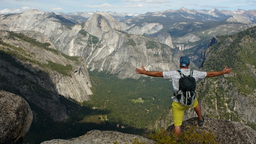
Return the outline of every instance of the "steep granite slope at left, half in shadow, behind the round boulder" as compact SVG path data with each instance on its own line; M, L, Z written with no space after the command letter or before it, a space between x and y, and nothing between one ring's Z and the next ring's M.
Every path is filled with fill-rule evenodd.
M19 93L29 102L47 111L55 121L65 121L67 112L60 103L59 95L77 101L90 100L92 94L85 60L68 60L60 52L50 47L43 48L23 41L21 34L0 31L1 36L1 89ZM38 41L49 41L36 32L26 32ZM25 37L25 36L24 36ZM37 44L37 43L36 43ZM16 59L11 56L15 54ZM78 63L78 64L77 64ZM52 65L52 66L50 66ZM54 67L69 68L65 73ZM53 69L52 69L53 68ZM64 71L63 71L64 72ZM36 118L36 117L35 117Z

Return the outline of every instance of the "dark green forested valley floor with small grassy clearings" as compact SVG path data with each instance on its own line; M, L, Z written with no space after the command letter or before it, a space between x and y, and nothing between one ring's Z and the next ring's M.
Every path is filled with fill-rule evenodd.
M134 68L135 69L135 68ZM89 71L89 70L88 70ZM136 73L134 72L136 75ZM171 106L172 85L163 78L118 79L106 72L90 72L93 95L90 101L77 104L60 96L66 106L67 122L54 122L41 110L24 137L26 143L50 139L70 139L91 130L110 130L139 134L147 124ZM32 109L40 108L29 104ZM81 106L82 105L82 106ZM107 115L106 122L81 122L84 117ZM105 118L105 117L104 117ZM119 127L117 127L119 124Z

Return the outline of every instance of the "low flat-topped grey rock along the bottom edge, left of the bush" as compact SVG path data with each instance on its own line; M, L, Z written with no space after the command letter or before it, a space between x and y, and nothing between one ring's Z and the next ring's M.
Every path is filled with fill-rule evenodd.
M149 140L147 138L144 138L139 135L133 135L133 134L126 134L122 132L114 132L114 131L99 131L99 130L92 130L90 132L87 132L85 135L72 138L69 140L49 140L44 141L41 144L113 144L113 142L116 142L118 144L130 144L134 140L138 139L139 142L144 142L146 144L154 144L156 143L153 140Z

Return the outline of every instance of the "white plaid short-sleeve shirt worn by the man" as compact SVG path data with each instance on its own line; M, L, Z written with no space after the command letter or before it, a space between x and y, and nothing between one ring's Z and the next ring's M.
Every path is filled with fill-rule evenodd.
M190 69L184 69L181 68L180 71L183 73L183 75L190 75ZM164 71L163 72L164 79L167 79L172 82L172 87L174 92L179 91L179 79L180 79L180 73L177 70L173 71ZM196 71L193 70L193 77L196 79L204 79L206 77L206 72ZM174 102L179 102L174 96L172 97Z

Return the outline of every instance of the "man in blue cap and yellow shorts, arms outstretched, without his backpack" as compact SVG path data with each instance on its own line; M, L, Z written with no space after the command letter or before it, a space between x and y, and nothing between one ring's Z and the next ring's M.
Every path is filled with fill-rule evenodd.
M186 56L180 57L180 71L183 75L189 76L190 75L190 69L188 66L190 65L189 58ZM174 92L179 91L179 79L180 79L180 73L177 70L174 71L146 71L146 69L141 66L142 68L136 68L135 71L137 74L143 74L147 76L154 76L154 77L164 77L164 79L167 79L172 82L173 90ZM195 78L197 81L198 79L204 79L205 77L213 77L213 76L220 76L224 74L229 74L232 72L232 68L227 69L228 66L225 66L225 68L222 71L213 71L213 72L201 72L193 70L192 77ZM184 110L190 108L189 106L183 106L179 103L176 96L172 96L172 118L174 121L174 133L176 135L180 135L180 126L182 124L183 114ZM204 117L201 113L200 105L195 98L193 107L197 116L198 116L198 125L203 126L204 124Z

